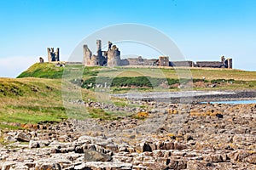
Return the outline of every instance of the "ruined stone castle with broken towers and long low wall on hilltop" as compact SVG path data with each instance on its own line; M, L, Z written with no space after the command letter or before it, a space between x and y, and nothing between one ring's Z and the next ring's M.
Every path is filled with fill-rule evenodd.
M144 66L182 66L182 67L209 67L209 68L229 68L232 69L232 59L225 59L221 57L220 61L172 61L169 56L160 56L158 59L143 59L137 58L121 59L120 51L112 42L108 42L108 50L102 50L102 41L96 40L96 54L92 54L88 45L83 46L83 64L85 66L119 66L119 65L144 65ZM81 49L82 50L82 49ZM48 61L60 61L60 49L47 48ZM44 62L40 58L40 62Z

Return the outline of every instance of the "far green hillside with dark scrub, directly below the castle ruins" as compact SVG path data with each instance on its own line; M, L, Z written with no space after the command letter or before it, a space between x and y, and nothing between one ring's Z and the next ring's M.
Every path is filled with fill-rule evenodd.
M63 74L64 73L64 74ZM75 74L75 75L73 75ZM62 75L64 75L62 77ZM125 92L130 88L150 90L166 87L178 90L180 84L186 87L206 90L256 88L256 71L239 71L210 68L177 68L172 67L85 67L83 65L34 64L20 77L38 77L50 79L67 79L81 85L82 88L93 88L96 83L110 86L114 92ZM193 78L193 85L191 85ZM82 82L80 82L82 79ZM165 85L166 83L166 85ZM92 86L91 86L92 85ZM105 86L106 86L105 85ZM212 90L212 88L211 88Z

